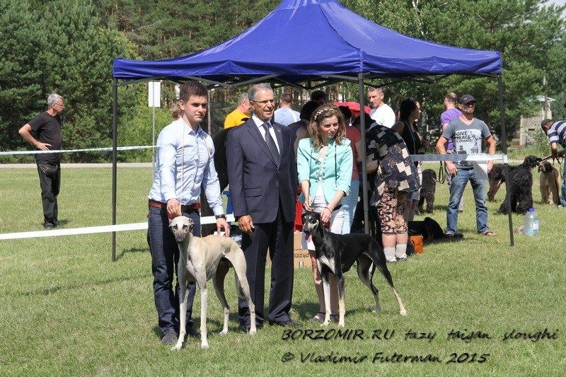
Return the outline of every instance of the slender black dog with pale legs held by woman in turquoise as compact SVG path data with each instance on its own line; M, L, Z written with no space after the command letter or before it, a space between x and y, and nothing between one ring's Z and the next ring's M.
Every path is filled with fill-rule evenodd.
M379 243L369 236L369 234L335 234L325 231L320 214L316 212L306 212L303 214L303 231L306 239L312 237L315 251L316 262L324 286L324 303L326 313L323 325L330 323L330 284L328 274L332 272L338 282L338 325L344 327L344 272L350 270L354 262L357 261L359 279L371 289L376 301L376 311L381 311L379 304L379 291L371 281L374 277L376 267L379 268L389 286L393 290L395 298L399 304L401 315L407 315L403 301L395 286L393 279L387 269L385 253Z

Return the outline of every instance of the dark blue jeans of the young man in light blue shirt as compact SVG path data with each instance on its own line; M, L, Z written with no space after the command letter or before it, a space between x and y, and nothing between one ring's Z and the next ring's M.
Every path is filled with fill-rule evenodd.
M199 211L183 212L195 221L192 234L200 236ZM167 210L149 207L148 242L151 252L151 272L154 274L154 298L159 329L163 335L179 330L179 281L177 263L179 248L169 229ZM175 291L173 291L173 277ZM195 283L189 284L187 299L187 328L192 327L192 302L195 300Z

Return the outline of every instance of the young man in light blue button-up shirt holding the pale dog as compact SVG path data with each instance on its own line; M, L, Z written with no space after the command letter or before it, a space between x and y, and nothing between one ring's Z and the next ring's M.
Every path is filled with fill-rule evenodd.
M226 236L230 236L214 169L214 144L199 124L207 114L207 89L201 83L188 81L180 87L179 98L179 117L163 128L157 139L154 184L148 196L151 270L163 344L176 343L179 330L179 284L176 277L173 279L179 249L169 230L169 222L176 216L187 216L195 222L192 234L200 236L200 203L197 201L202 185L216 216L216 228L224 229ZM188 294L187 332L191 334L195 284L189 285Z

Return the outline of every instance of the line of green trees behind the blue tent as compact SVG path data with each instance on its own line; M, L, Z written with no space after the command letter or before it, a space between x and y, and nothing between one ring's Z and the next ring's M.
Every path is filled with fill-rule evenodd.
M112 124L112 59L168 59L217 45L272 11L275 0L0 0L0 147L27 149L18 129L45 110L48 93L64 96L66 149L109 146ZM556 98L555 117L565 117L564 7L546 0L342 0L347 8L386 28L446 45L498 50L503 57L507 131L520 115L531 115L529 98ZM305 30L316 33L316 30ZM321 41L323 42L323 41ZM403 56L403 51L399 51ZM546 85L543 85L543 78ZM283 88L288 91L290 88ZM120 144L151 141L146 85L120 87ZM497 81L450 76L434 84L401 82L386 88L393 108L406 97L419 99L436 127L450 91L478 98L478 117L497 129ZM357 100L357 86L329 88ZM212 92L212 124L221 127L238 91ZM174 98L173 85L163 95ZM299 104L300 105L300 104ZM171 117L158 109L158 127ZM148 153L122 153L144 159ZM66 161L99 161L99 153L64 156ZM25 159L25 158L24 158ZM4 158L1 161L21 161Z

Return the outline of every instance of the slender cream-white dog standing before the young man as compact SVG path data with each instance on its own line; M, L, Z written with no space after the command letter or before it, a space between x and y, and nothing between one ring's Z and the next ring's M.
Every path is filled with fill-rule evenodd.
M171 350L178 350L183 347L185 339L185 318L187 315L187 284L196 282L200 289L200 347L208 348L207 341L207 281L214 277L214 290L218 296L222 308L224 308L224 328L220 332L228 332L229 306L224 296L224 277L229 270L228 260L236 271L239 282L240 297L246 298L250 308L250 334L255 334L255 306L250 296L250 287L246 279L246 258L242 249L231 238L221 236L207 236L204 238L192 236L194 223L192 219L185 216L177 216L169 228L175 236L179 246L180 256L177 266L177 277L180 286L180 330L179 339L175 347ZM226 259L224 259L226 258Z

